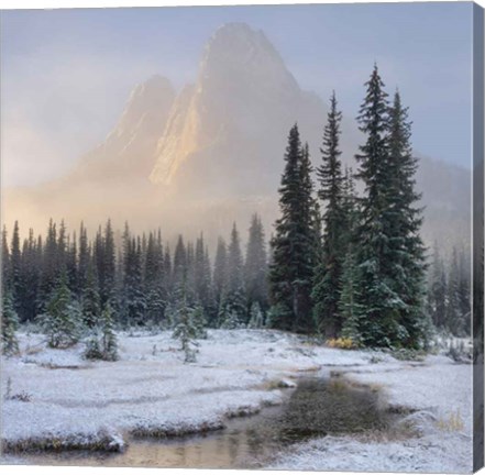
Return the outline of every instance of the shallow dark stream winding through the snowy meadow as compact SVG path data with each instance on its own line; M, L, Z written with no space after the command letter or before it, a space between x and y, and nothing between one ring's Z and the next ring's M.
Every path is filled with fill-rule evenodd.
M231 419L219 431L168 440L131 438L121 454L42 453L27 460L38 465L257 468L294 443L327 434L385 431L395 420L377 390L342 377L304 377L287 391L283 405Z

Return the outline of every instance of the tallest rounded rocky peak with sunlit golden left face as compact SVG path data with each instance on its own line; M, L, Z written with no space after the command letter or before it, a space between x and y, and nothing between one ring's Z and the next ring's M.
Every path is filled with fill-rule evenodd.
M224 25L172 110L150 179L199 197L273 192L289 128L298 122L315 140L324 117L263 32Z

